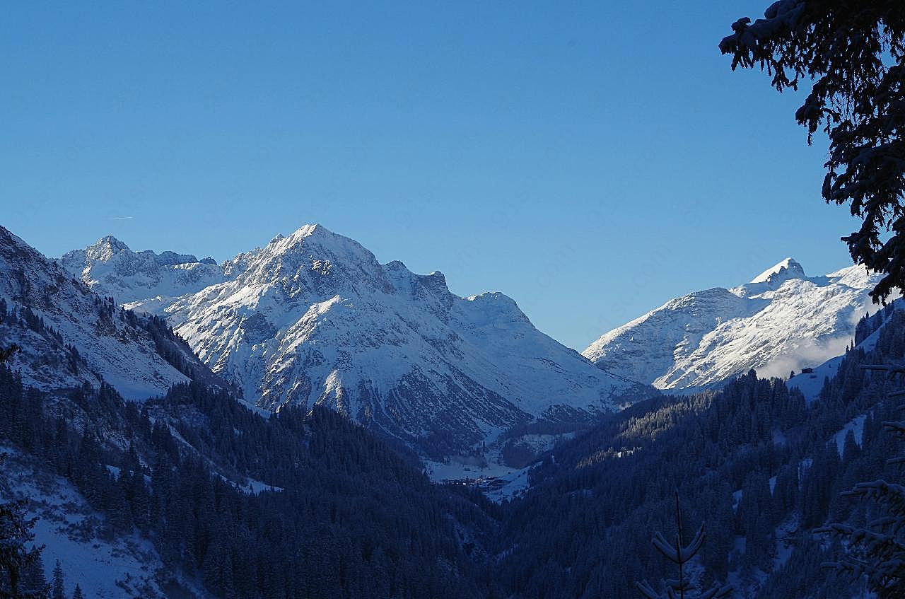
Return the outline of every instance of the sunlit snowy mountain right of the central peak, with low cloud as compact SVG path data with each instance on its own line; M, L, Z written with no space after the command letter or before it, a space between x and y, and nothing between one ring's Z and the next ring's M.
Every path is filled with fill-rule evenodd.
M787 258L738 287L671 299L582 353L661 389L718 385L751 368L788 376L843 353L877 280L860 266L807 277Z

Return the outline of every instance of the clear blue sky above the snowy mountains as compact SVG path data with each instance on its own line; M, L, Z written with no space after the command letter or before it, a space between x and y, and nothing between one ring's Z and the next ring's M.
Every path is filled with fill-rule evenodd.
M322 223L581 350L786 256L850 263L738 2L5 3L0 223L223 260Z

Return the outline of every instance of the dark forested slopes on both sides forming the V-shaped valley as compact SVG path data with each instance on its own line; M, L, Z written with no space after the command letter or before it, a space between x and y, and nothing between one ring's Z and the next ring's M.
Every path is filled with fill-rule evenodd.
M334 411L266 417L201 382L138 404L110 385L48 395L3 366L0 438L97 510L82 535L148 539L160 587L182 594L194 582L215 597L634 596L636 581L674 576L651 537L675 534L678 490L683 532L706 523L695 584L848 597L864 583L820 567L843 546L814 528L872 519L841 492L899 480L881 423L900 383L862 366L905 359L905 312L863 320L858 338L871 342L811 403L751 372L635 404L546 454L502 505L431 483L414 454Z

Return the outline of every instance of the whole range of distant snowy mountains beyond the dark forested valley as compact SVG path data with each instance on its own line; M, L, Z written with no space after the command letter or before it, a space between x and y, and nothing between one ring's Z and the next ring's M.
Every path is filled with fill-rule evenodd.
M232 260L133 252L113 237L58 264L101 296L166 319L246 401L329 405L437 458L514 427L576 425L654 395L756 369L788 376L843 353L876 282L861 267L808 277L788 258L748 283L672 299L583 355L509 297L452 294L441 272L379 263L319 224Z

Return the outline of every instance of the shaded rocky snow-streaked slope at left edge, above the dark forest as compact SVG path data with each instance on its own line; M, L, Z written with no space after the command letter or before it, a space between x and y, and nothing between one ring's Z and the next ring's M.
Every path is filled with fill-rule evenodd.
M0 226L0 347L12 344L24 382L42 389L103 380L146 399L207 371L163 322L119 309Z

